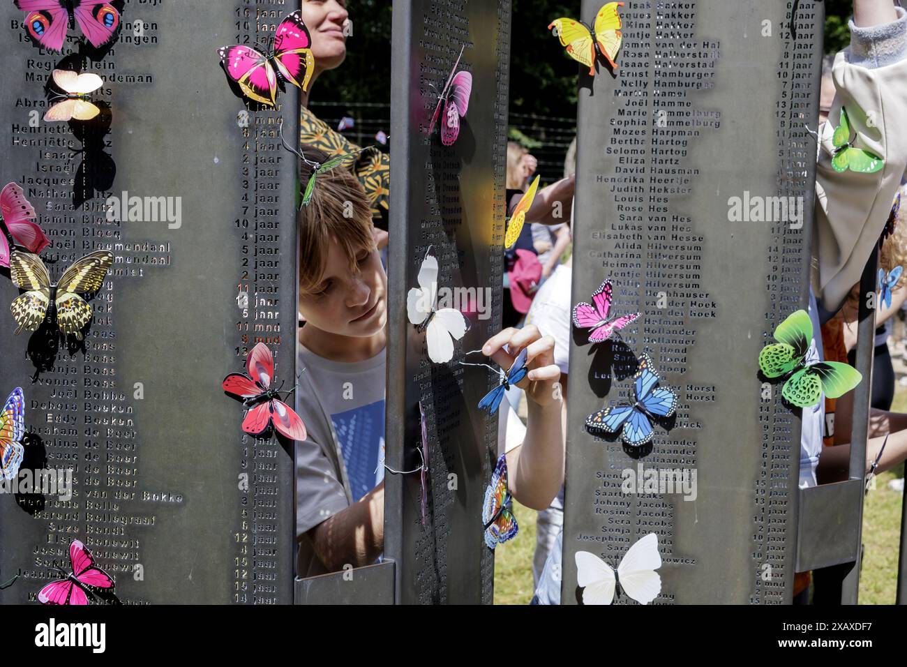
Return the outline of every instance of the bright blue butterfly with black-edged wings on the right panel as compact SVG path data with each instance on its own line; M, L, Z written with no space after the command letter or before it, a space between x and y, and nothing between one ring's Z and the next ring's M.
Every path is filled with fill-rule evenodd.
M667 387L658 387L658 373L648 354L639 358L636 372L636 403L632 406L606 407L586 417L586 428L590 432L620 433L623 441L630 446L645 445L655 435L652 428L654 417L670 417L678 405L678 397ZM597 435L592 433L592 435Z

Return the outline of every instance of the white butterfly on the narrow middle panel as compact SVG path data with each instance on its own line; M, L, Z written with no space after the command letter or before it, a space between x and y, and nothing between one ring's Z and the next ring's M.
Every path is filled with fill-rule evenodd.
M453 339L466 333L466 318L457 309L434 309L438 296L438 260L426 254L419 269L419 288L406 295L406 315L419 329L425 329L428 357L436 364L453 358Z

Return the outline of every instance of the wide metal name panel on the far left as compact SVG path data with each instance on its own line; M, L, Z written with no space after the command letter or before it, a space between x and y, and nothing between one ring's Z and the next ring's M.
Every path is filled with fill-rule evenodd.
M46 321L15 336L0 313L0 391L25 395L22 468L72 473L68 498L0 495L0 577L20 574L4 603L33 602L69 572L74 539L116 581L95 602L292 600L291 448L245 436L220 383L263 342L272 386L295 384L297 172L278 126L295 135L298 96L288 86L277 109L247 105L217 53L269 40L288 5L208 7L199 32L182 3L133 0L91 57L78 28L54 54L30 43L24 12L0 9L3 182L34 204L52 277L93 250L114 255L83 341ZM54 68L102 77L98 116L44 122ZM19 293L8 275L6 304Z

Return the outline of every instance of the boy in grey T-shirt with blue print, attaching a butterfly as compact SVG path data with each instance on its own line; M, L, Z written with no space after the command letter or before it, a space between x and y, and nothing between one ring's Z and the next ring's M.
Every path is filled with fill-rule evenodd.
M306 150L307 158L326 156ZM306 179L304 178L303 181ZM297 411L308 437L297 443L297 575L375 562L384 551L385 345L387 278L373 238L369 202L344 169L321 174L299 212ZM398 298L403 299L400 295ZM504 348L507 345L510 351ZM528 350L524 380L530 427L508 431L512 495L543 509L563 482L561 400L554 340L534 327L505 329L483 346L502 368ZM499 414L508 415L502 405ZM504 425L502 425L504 426ZM520 435L520 434L518 434ZM477 530L480 529L476 517Z

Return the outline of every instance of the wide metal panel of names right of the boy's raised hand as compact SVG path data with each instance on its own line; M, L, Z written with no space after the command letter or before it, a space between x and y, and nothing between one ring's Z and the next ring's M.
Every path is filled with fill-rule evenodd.
M564 603L578 551L616 568L649 533L655 603L791 600L800 421L757 358L806 303L824 15L790 5L628 1L619 71L580 76L572 303L610 278L612 315L642 315L572 341ZM644 446L593 435L642 352L675 417Z

